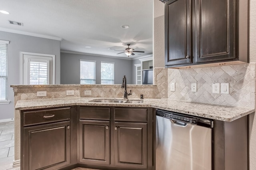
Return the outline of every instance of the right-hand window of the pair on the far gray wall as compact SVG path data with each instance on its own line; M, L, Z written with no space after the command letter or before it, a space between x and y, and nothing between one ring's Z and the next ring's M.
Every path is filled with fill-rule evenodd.
M114 84L114 63L101 62L101 84Z

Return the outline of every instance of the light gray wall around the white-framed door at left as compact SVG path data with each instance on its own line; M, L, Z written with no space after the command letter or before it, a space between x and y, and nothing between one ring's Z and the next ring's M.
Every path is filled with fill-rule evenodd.
M0 120L14 118L14 92L10 85L20 84L20 51L55 55L55 83L60 83L60 41L0 31L8 44L8 101L0 105Z

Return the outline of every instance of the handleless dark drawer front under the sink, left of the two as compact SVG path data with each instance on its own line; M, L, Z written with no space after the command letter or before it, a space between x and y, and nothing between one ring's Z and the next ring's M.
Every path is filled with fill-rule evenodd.
M79 119L110 120L110 108L80 107Z

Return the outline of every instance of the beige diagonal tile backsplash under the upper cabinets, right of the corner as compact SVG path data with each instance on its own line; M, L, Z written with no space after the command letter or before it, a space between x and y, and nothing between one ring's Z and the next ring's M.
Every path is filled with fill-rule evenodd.
M176 91L169 90L176 83ZM191 92L197 83L197 92ZM230 83L230 94L212 93L212 83ZM255 63L168 69L168 98L238 107L255 107Z

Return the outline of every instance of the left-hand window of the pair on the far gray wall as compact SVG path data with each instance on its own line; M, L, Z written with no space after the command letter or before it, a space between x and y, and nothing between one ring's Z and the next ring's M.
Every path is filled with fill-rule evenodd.
M96 61L80 60L80 84L95 84Z

